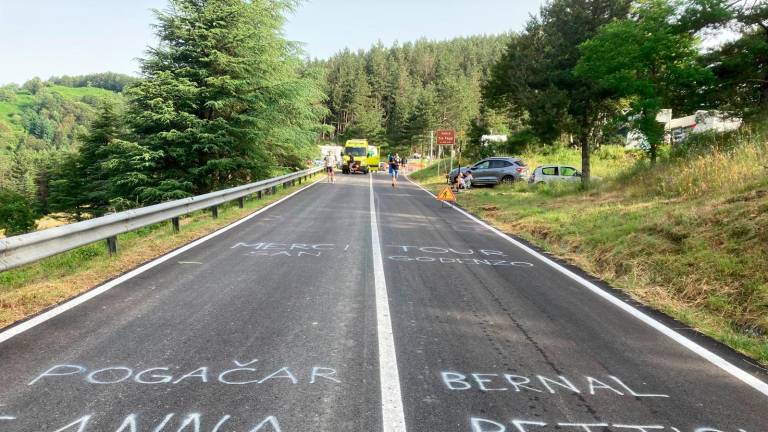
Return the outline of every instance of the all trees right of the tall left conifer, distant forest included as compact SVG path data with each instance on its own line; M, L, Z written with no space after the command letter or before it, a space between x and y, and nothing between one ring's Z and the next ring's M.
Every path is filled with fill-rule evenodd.
M738 34L714 50L702 37ZM565 143L583 154L637 130L658 157L661 109L768 110L768 3L752 0L550 0L517 33L344 50L326 71L329 132L422 152L430 131L465 132L470 158ZM506 134L503 144L481 143Z

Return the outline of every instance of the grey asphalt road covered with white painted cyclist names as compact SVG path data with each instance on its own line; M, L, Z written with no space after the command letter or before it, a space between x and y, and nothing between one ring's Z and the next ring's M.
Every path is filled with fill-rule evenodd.
M1 432L768 431L745 359L383 174L148 267L0 343Z

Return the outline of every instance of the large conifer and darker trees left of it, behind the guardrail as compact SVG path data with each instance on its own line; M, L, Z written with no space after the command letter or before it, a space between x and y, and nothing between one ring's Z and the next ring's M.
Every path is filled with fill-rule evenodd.
M117 90L75 151L60 154L36 196L4 189L6 234L35 216L81 220L268 178L313 158L326 108L321 71L282 35L294 0L170 0L156 11L159 44L133 82L114 76L54 78ZM29 92L40 91L38 82ZM44 180L44 181L43 181ZM40 190L46 199L40 199ZM22 220L19 220L22 219ZM6 222L6 221L12 221Z

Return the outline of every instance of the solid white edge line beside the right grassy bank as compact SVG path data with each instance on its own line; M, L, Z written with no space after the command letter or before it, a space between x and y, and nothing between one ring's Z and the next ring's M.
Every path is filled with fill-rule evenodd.
M432 197L435 197L435 195L422 187L420 184L415 183L410 178L406 177L409 182L414 184L416 187L420 188L424 192L428 193ZM604 298L605 300L609 301L613 305L619 307L620 309L624 310L625 312L629 313L633 317L639 319L640 321L648 324L649 326L653 327L654 329L658 330L665 336L669 337L670 339L674 340L675 342L679 343L680 345L688 348L689 350L693 351L694 353L698 354L699 356L703 357L705 360L709 361L710 363L714 364L715 366L719 367L720 369L724 370L725 372L728 372L729 374L733 375L734 377L738 378L739 380L743 381L745 384L748 384L755 390L759 391L760 393L768 396L768 384L757 379L752 374L748 373L747 371L735 366L734 364L730 363L729 361L725 360L724 358L720 357L719 355L713 353L712 351L704 348L703 346L697 344L696 342L688 339L687 337L681 335L680 333L674 331L670 327L667 327L666 325L662 324L661 322L657 321L656 319L652 318L651 316L641 312L639 309L635 308L634 306L631 306L630 304L624 302L623 300L619 299L618 297L610 294L609 292L603 290L599 286L593 284L592 282L584 279L583 277L577 275L576 273L568 270L567 268L563 267L562 265L556 263L555 261L552 261L551 259L547 258L546 256L540 254L539 252L535 251L534 249L531 249L530 247L524 245L523 243L520 243L519 241L513 239L512 237L504 234L503 232L499 231L498 229L492 227L488 223L476 218L475 216L467 213L466 211L454 206L453 204L446 203L449 206L451 206L454 210L458 211L459 213L463 214L464 216L472 219L473 221L477 222L478 224L482 225L483 227L487 228L488 230L496 233L503 239L509 241L510 243L514 244L515 246L519 247L520 249L524 250L525 252L528 252L529 254L533 255L534 257L538 258L541 262L544 264L547 264L548 266L552 267L553 269L559 271L563 275L567 276L568 278L572 279L573 281L579 283L583 287L587 288L588 290L592 291L593 293L599 295L600 297Z

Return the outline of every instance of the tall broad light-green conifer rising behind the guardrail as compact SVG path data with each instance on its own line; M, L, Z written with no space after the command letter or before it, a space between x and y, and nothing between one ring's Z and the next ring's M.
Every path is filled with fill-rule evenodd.
M174 0L157 12L157 48L127 90L137 146L123 173L158 202L298 168L325 110L317 72L281 35L292 2ZM134 165L135 166L135 165ZM128 181L128 180L127 180ZM120 196L121 199L133 199Z

